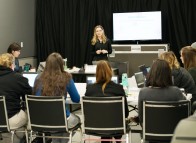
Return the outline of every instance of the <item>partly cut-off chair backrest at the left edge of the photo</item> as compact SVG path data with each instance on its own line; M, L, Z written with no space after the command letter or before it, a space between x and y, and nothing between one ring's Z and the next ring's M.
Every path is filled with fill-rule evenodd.
M0 132L9 132L9 131L10 128L8 122L5 97L0 96Z

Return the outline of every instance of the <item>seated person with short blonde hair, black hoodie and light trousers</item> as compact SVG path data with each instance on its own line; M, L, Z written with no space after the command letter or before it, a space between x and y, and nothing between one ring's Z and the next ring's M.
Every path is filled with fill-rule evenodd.
M21 105L26 94L32 94L28 79L14 72L14 56L0 55L0 95L5 96L10 129L23 130L27 125L27 114ZM21 142L24 133L16 133L14 143Z

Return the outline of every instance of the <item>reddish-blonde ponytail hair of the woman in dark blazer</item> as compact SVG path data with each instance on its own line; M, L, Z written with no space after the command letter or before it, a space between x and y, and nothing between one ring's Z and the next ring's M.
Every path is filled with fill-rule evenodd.
M111 81L113 72L110 64L107 61L100 60L97 63L96 83L102 83L102 91L104 93L106 85Z

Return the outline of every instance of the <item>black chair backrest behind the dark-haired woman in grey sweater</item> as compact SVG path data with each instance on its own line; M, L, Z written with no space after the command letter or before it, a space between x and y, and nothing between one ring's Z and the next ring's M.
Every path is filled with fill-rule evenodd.
M181 119L190 115L190 101L144 101L143 138L145 140L171 140Z

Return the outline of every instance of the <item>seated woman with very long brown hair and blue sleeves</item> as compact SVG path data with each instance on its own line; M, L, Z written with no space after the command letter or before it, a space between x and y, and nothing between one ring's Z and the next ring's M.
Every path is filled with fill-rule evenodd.
M64 61L59 53L52 53L46 59L43 73L35 80L33 92L37 96L65 96L69 93L73 102L80 102L80 95L75 87L71 74L64 71ZM68 128L75 127L80 123L80 118L66 110ZM64 133L59 133L64 136ZM65 142L65 139L52 139L53 143Z

